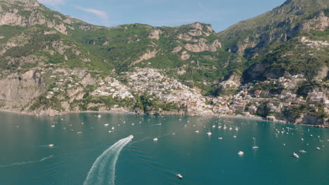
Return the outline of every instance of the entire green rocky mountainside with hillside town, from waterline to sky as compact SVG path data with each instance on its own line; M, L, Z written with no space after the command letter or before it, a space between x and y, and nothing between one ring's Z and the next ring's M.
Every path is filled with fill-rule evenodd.
M0 0L0 109L250 112L329 125L328 13L328 1L289 0L215 33L200 22L101 27L35 0ZM280 101L323 99L302 111L273 102L289 93L296 96Z

